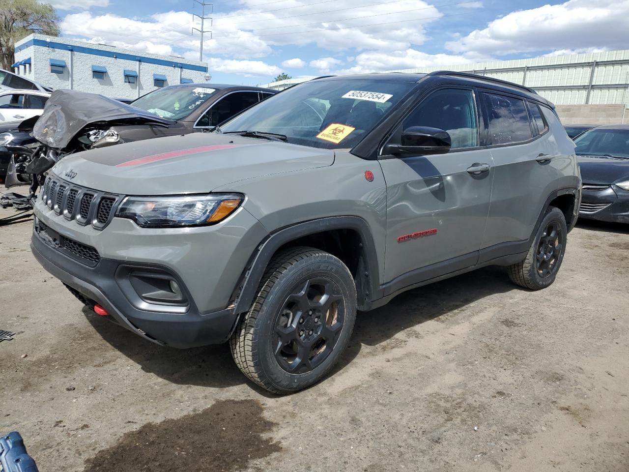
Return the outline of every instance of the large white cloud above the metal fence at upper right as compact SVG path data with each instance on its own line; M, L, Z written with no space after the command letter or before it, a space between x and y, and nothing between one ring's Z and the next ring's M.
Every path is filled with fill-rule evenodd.
M446 43L453 52L506 55L547 50L624 49L629 0L570 0L514 11L487 28Z

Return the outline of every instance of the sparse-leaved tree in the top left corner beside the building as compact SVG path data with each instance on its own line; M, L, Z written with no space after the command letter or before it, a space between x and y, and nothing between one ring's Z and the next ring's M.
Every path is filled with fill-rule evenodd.
M53 6L36 0L0 0L0 68L11 70L16 41L31 33L59 35Z

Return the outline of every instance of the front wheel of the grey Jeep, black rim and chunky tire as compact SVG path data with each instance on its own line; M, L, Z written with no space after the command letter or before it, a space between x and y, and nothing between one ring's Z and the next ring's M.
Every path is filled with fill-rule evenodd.
M356 288L347 266L318 249L291 248L269 263L230 339L231 354L257 385L293 393L331 371L355 318Z

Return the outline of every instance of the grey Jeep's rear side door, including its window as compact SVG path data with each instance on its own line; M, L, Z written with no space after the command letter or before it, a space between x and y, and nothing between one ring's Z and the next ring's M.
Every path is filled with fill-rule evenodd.
M550 130L544 113L554 116L550 108L493 91L481 96L487 113L487 142L496 166L482 247L494 248L529 239L546 199L560 184L560 167L571 166L560 151L560 144L567 146L569 138L563 129L560 133ZM493 252L487 254L486 259L491 259Z

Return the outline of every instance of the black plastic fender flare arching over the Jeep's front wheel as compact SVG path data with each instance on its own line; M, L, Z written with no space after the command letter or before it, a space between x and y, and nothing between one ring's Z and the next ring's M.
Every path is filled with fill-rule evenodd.
M243 271L232 298L232 300L235 300L234 313L240 314L248 312L251 308L253 298L257 294L257 289L264 275L264 271L277 249L301 237L329 230L354 230L360 235L364 266L359 265L357 278L364 284L362 295L365 301L380 298L380 271L377 250L369 225L359 216L330 216L329 218L310 220L282 228L272 233L258 245L257 251L252 255L247 268ZM361 296L359 294L359 302L360 298ZM360 305L361 303L359 303L359 307Z

